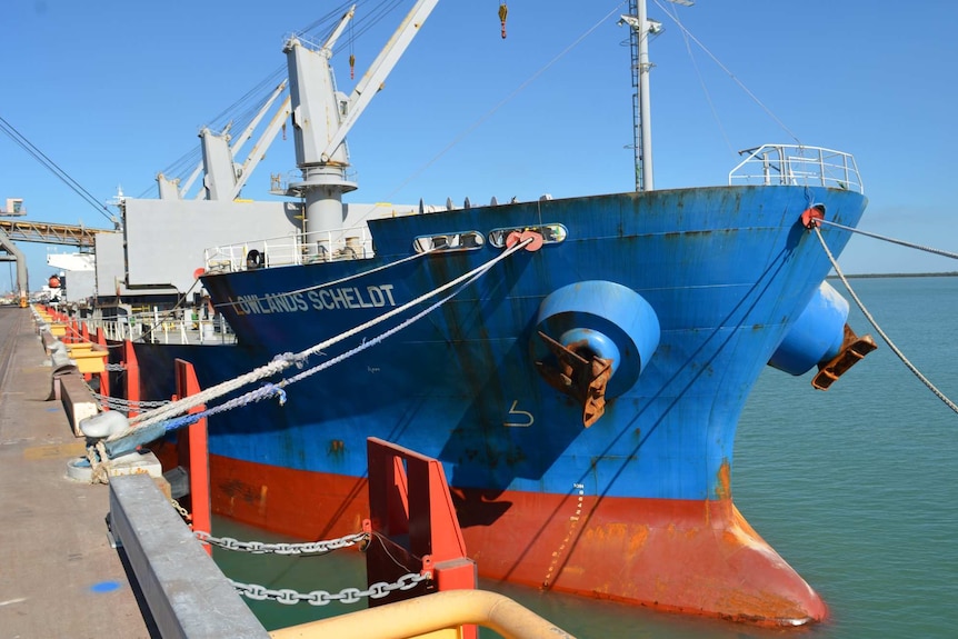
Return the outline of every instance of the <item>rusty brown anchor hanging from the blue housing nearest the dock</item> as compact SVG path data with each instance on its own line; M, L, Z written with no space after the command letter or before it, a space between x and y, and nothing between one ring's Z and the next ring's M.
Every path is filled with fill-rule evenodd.
M612 360L591 355L586 341L562 345L542 331L539 338L549 347L556 363L536 362L546 381L582 405L582 425L589 428L606 412L606 386L612 377ZM591 357L579 355L586 352Z

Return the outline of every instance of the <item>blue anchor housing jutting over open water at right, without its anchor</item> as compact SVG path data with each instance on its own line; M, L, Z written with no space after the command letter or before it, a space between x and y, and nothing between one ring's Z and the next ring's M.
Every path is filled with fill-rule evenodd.
M848 300L828 282L821 282L811 301L798 316L769 366L799 376L836 357L845 340Z

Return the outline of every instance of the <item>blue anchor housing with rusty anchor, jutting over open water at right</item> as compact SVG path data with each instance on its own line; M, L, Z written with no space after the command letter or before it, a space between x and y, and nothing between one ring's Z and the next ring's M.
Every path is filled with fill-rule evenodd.
M821 282L772 353L769 366L799 376L817 365L811 386L828 390L845 371L878 348L871 336L858 337L847 319L848 301L831 284Z

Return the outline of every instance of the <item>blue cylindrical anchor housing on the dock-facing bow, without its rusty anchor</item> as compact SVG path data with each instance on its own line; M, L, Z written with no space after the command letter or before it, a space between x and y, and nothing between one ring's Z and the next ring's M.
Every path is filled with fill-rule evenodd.
M608 397L635 386L661 337L659 318L642 296L602 280L576 282L550 293L539 306L537 330L586 359L611 360ZM541 340L532 339L533 358L540 360L548 352Z

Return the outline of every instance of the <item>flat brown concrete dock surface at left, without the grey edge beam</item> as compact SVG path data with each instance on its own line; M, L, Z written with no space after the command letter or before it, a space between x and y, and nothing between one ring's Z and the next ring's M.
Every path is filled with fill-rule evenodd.
M67 478L84 453L48 400L30 309L0 307L0 627L4 637L158 637L107 528L107 486Z

